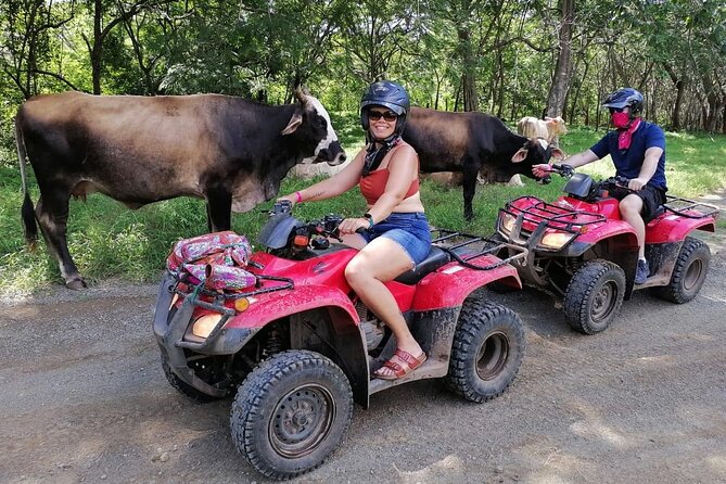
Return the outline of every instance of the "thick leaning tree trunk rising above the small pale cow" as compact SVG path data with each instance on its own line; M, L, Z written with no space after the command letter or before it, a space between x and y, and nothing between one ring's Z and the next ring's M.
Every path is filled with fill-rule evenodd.
M562 21L560 23L559 55L555 66L552 84L547 95L547 116L561 116L564 100L570 89L572 77L572 31L575 15L574 0L560 0Z

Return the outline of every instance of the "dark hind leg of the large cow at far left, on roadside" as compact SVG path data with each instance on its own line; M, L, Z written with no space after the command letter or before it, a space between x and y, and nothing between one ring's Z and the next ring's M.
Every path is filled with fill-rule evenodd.
M42 230L48 250L55 257L61 276L68 289L84 289L86 281L78 273L78 268L68 252L66 222L68 220L68 201L71 193L55 189L40 195L36 205L36 216Z

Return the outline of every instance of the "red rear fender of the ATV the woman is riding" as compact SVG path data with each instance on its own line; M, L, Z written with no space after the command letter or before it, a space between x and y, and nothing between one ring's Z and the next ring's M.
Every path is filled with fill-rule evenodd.
M458 307L474 290L494 281L522 289L517 269L509 264L476 270L449 263L419 282L411 308L415 311L428 311Z

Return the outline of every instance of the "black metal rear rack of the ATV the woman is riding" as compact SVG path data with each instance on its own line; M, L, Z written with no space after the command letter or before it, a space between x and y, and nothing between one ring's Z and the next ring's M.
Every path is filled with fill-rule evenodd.
M461 266L474 270L496 269L513 260L525 258L527 253L525 247L500 240L446 229L433 229L431 244L449 254ZM508 256L499 258L505 253ZM496 259L485 263L482 259L485 256L494 256Z

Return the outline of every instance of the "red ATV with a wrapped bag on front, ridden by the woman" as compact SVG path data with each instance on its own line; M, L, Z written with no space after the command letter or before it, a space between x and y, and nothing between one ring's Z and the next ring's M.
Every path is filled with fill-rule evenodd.
M216 238L216 249L192 243L186 256L175 249L158 290L153 326L169 383L196 400L235 395L234 445L272 479L321 464L346 431L354 400L367 408L373 393L444 378L481 403L500 395L522 362L519 317L476 290L493 281L521 288L509 263L525 251L509 247L502 260L494 254L509 252L505 244L434 230L426 259L387 283L429 359L399 380L372 379L395 341L345 280L357 251L334 241L341 220L303 222L277 204L260 231L265 252L245 259L246 249L229 242L239 238L233 232L203 235ZM198 264L215 252L224 253L217 263ZM215 278L230 271L231 282Z

